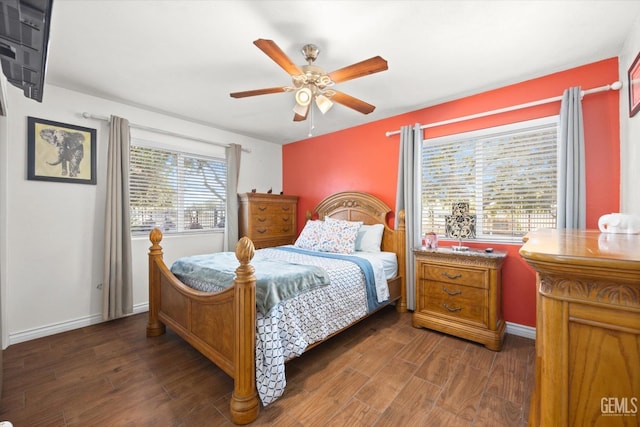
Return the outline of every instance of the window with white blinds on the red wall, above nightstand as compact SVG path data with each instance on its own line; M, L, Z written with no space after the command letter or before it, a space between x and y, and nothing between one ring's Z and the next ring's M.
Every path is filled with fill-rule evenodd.
M555 228L557 133L556 116L425 140L422 233L457 237L447 219L475 224L485 240L520 242L530 230ZM454 206L468 206L470 221Z

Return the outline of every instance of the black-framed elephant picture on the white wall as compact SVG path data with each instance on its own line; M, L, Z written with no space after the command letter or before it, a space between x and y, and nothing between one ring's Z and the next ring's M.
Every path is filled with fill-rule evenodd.
M27 117L27 179L96 184L96 130Z

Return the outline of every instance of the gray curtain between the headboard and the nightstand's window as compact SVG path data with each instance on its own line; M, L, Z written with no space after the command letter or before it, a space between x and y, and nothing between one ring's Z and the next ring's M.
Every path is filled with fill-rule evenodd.
M416 279L413 249L420 246L420 153L422 129L420 125L400 128L400 155L398 156L398 187L396 190L396 228L400 210L405 212L407 308L415 309Z

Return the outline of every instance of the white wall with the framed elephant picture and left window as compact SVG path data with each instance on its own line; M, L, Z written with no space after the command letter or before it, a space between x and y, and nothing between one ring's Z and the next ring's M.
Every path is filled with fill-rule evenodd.
M13 86L7 88L7 95L7 131L0 134L0 174L6 177L6 194L0 191L0 203L5 207L0 209L0 236L6 238L6 252L0 251L5 348L101 321L102 291L97 286L103 270L108 124L84 119L83 112L118 115L131 123L241 144L251 153L242 154L239 191L254 187L279 191L282 187L280 145L56 86L44 88L43 103L25 98ZM27 180L27 116L96 128L97 185ZM137 311L146 310L148 302L149 245L147 238L136 238L132 245ZM172 262L183 255L222 250L222 233L170 237L163 240L163 246L165 259Z

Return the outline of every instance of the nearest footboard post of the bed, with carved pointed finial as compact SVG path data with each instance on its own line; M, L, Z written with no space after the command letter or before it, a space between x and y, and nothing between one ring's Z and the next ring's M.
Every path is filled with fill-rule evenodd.
M255 254L248 237L236 244L236 258L240 265L235 278L235 372L231 395L231 420L235 424L248 424L258 417L260 401L256 390L256 276L249 261Z

